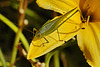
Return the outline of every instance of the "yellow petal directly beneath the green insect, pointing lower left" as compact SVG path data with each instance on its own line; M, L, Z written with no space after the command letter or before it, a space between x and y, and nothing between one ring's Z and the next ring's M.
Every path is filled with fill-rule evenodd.
M79 13L76 13L75 16L80 16ZM74 16L72 18L75 18ZM69 20L70 21L70 20ZM74 22L74 20L72 20L73 22L65 22L63 23L59 28L58 28L58 32L59 32L59 36L57 33L57 30L55 30L53 33L45 36L45 38L49 41L49 43L45 43L46 40L44 38L38 39L36 41L32 41L30 44L30 49L28 52L28 59L31 58L36 58L39 57L41 55L44 55L46 53L48 53L49 51L55 49L56 47L61 46L64 41L68 41L69 39L71 39L72 37L74 37L77 34L77 30L80 28L80 21L79 22ZM61 34L61 33L65 33L65 34ZM60 40L64 40L64 41L59 41L59 37ZM34 46L34 45L41 45L44 44L44 46Z

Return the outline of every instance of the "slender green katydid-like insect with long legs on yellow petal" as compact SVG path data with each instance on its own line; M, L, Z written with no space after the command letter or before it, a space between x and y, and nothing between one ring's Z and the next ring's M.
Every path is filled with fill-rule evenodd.
M69 12L67 12L66 14L60 16L59 18L56 18L54 20L49 20L47 21L40 29L39 31L36 32L35 34L35 37L33 39L34 40L37 40L39 38L44 38L47 42L46 43L49 43L49 41L44 37L52 32L54 32L55 30L58 31L58 28L65 22L67 21L70 17L72 17L76 12L78 12L79 10L77 9L72 15L70 15L66 20L64 20L63 22L61 22L64 18L66 18L71 12L73 12L76 8L70 10ZM58 33L58 36L59 36L59 33ZM59 40L60 40L60 37L59 37ZM34 45L34 44L33 44ZM44 43L42 44L44 46ZM34 46L37 46L37 45L34 45ZM41 45L40 45L41 46ZM37 47L40 47L40 46L37 46Z

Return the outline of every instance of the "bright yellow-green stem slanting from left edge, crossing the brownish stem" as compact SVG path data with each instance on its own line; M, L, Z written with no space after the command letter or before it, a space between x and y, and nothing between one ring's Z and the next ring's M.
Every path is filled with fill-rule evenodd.
M18 31L18 27L16 27L13 22L11 22L9 19L7 19L5 16L3 16L2 14L0 14L0 20L2 22L4 22L6 25L8 25L15 33L17 33ZM26 51L28 52L29 50L29 43L27 41L27 39L25 38L25 36L21 33L20 34L20 39L21 42L23 43ZM32 59L33 62L36 62L36 59Z

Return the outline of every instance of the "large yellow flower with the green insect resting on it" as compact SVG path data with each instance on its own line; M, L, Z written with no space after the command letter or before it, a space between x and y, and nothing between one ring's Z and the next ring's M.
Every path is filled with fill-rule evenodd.
M66 34L60 33L59 35L65 41L77 35L78 46L89 65L100 67L100 0L37 0L37 4L44 9L54 10L61 14L78 7L80 12L77 12L58 28L59 32ZM74 32L71 33L71 31ZM68 32L70 33L67 34ZM28 59L41 56L62 45L64 42L59 41L57 34L57 31L54 31L45 36L50 42L44 47L32 45L44 43L44 38L32 41Z

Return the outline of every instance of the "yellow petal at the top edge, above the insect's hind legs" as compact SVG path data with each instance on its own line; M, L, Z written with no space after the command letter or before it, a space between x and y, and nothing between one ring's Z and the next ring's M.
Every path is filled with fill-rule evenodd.
M73 0L37 0L36 2L44 9L54 10L61 14L77 7Z

